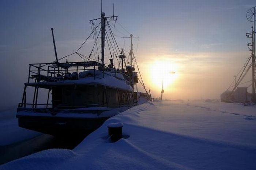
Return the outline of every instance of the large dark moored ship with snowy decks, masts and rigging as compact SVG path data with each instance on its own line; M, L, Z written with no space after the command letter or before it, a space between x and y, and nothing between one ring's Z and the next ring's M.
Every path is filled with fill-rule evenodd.
M138 83L138 75L132 65L133 56L131 65L128 66L123 49L119 51L121 69L116 69L112 56L114 53L110 52L110 64L105 66L105 41L108 41L108 46L111 43L111 46L117 46L109 27L109 21L115 21L116 17L105 17L102 12L100 18L90 20L95 28L91 33L95 39L93 48L99 36L96 28L101 25L100 62L90 58L93 50L87 60L82 62L59 62L52 28L56 61L29 64L28 82L25 83L22 102L17 108L16 117L20 127L56 136L88 134L101 126L106 119L138 103L138 92L133 91L133 86ZM101 22L96 26L93 21L99 19ZM109 28L110 34L107 36L106 27ZM116 50L115 48L113 50ZM78 51L71 55L86 58ZM27 102L28 87L34 88L30 103ZM47 94L45 103L38 102L41 91Z

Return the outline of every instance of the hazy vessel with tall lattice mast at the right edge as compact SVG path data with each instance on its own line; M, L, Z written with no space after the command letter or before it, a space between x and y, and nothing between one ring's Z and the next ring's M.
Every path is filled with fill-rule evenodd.
M252 32L246 33L248 38L251 38L251 43L248 43L247 46L251 51L251 55L246 60L244 66L241 68L240 72L234 76L234 81L230 84L229 88L221 94L221 101L228 103L247 103L253 102L256 103L256 62L255 62L255 12L256 7L252 7L246 13L246 18L248 21L252 22ZM246 74L252 68L252 80L248 82L252 82L251 85L246 87L238 87ZM238 79L237 79L238 78ZM236 80L237 79L237 80ZM245 82L245 83L248 83ZM248 87L252 86L252 93L248 93ZM229 90L232 88L232 90Z

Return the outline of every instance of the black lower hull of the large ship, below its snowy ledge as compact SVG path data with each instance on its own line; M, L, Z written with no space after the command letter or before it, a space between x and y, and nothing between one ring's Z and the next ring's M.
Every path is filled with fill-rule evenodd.
M81 136L98 129L108 118L19 116L19 126L54 136Z

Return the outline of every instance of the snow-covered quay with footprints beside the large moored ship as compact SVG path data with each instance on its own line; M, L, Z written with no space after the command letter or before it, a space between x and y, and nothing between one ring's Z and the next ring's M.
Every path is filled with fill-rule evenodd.
M112 143L109 123L123 123ZM0 169L255 169L256 107L147 102L108 119L74 150L50 149Z

